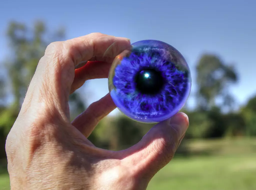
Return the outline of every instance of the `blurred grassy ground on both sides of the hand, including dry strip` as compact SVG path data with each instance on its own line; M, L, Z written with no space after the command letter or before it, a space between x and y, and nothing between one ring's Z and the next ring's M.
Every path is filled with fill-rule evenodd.
M208 156L177 156L160 170L147 190L255 190L256 140L215 140L188 143L190 151ZM9 190L9 176L0 167L0 190Z

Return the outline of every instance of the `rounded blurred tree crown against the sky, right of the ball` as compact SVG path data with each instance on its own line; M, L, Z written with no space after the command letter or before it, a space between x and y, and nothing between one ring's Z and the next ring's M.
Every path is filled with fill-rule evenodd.
M221 106L232 107L233 97L229 94L229 84L238 80L232 66L226 65L216 55L205 54L197 66L198 106L209 110L216 106L216 99L221 100Z

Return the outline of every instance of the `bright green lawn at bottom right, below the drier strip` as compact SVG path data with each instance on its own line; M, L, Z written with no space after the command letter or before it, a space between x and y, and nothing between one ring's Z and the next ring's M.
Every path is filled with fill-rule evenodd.
M147 190L255 190L256 154L174 159Z

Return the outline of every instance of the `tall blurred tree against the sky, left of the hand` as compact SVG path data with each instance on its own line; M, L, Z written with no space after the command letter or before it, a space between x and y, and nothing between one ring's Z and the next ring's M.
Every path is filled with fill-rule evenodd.
M34 27L11 22L7 30L11 58L6 61L9 79L12 85L13 104L18 108L23 101L28 84L33 77L40 58L47 45L64 38L65 31L60 29L51 37L44 22L37 21Z

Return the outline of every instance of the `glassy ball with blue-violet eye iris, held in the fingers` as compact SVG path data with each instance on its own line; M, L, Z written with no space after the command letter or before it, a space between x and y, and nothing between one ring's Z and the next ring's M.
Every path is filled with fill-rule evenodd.
M186 60L174 47L143 40L116 56L108 83L122 113L138 122L157 123L185 105L191 75Z

